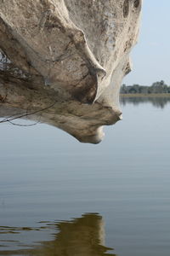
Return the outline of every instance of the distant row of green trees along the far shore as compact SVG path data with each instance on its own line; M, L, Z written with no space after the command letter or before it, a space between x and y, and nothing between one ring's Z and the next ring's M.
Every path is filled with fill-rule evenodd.
M170 86L165 84L163 80L160 82L155 82L151 86L146 85L126 85L122 84L121 94L160 94L160 93L170 93Z

